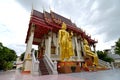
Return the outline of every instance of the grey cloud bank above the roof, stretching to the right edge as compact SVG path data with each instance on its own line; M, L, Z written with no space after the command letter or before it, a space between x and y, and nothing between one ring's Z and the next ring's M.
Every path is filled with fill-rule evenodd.
M120 37L120 0L17 0L17 2L28 12L31 11L33 3L34 9L38 11L42 11L43 6L47 11L51 7L58 14L71 18L78 27L98 39L99 49L113 45L113 41Z

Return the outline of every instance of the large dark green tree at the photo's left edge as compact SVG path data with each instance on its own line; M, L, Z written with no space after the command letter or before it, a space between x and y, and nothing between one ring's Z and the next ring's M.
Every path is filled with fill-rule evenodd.
M0 70L8 70L13 66L13 61L16 61L16 52L2 45L0 42Z

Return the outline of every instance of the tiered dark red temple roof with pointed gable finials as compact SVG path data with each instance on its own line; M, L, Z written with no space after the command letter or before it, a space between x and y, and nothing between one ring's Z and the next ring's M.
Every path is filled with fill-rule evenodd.
M97 41L91 39L90 36L86 35L86 33L81 30L81 28L77 27L75 23L72 23L70 19L65 18L53 11L50 11L50 13L47 11L43 11L42 13L37 10L32 10L31 12L31 18L25 42L28 41L31 24L35 24L36 26L34 31L33 44L39 45L40 39L42 39L44 35L46 35L49 31L57 33L61 28L62 22L66 23L68 31L73 31L74 34L86 38L90 44L97 43Z

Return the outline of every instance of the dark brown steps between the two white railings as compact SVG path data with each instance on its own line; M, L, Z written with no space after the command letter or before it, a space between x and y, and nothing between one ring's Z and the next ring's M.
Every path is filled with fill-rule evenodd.
M49 75L49 71L45 65L44 59L39 59L39 69L40 69L41 75Z

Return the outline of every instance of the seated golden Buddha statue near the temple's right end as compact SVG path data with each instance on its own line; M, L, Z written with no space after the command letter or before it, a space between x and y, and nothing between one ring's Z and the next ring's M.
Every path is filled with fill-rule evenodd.
M84 51L86 55L93 57L93 65L98 65L98 56L97 54L93 53L89 47L88 41L84 39Z

